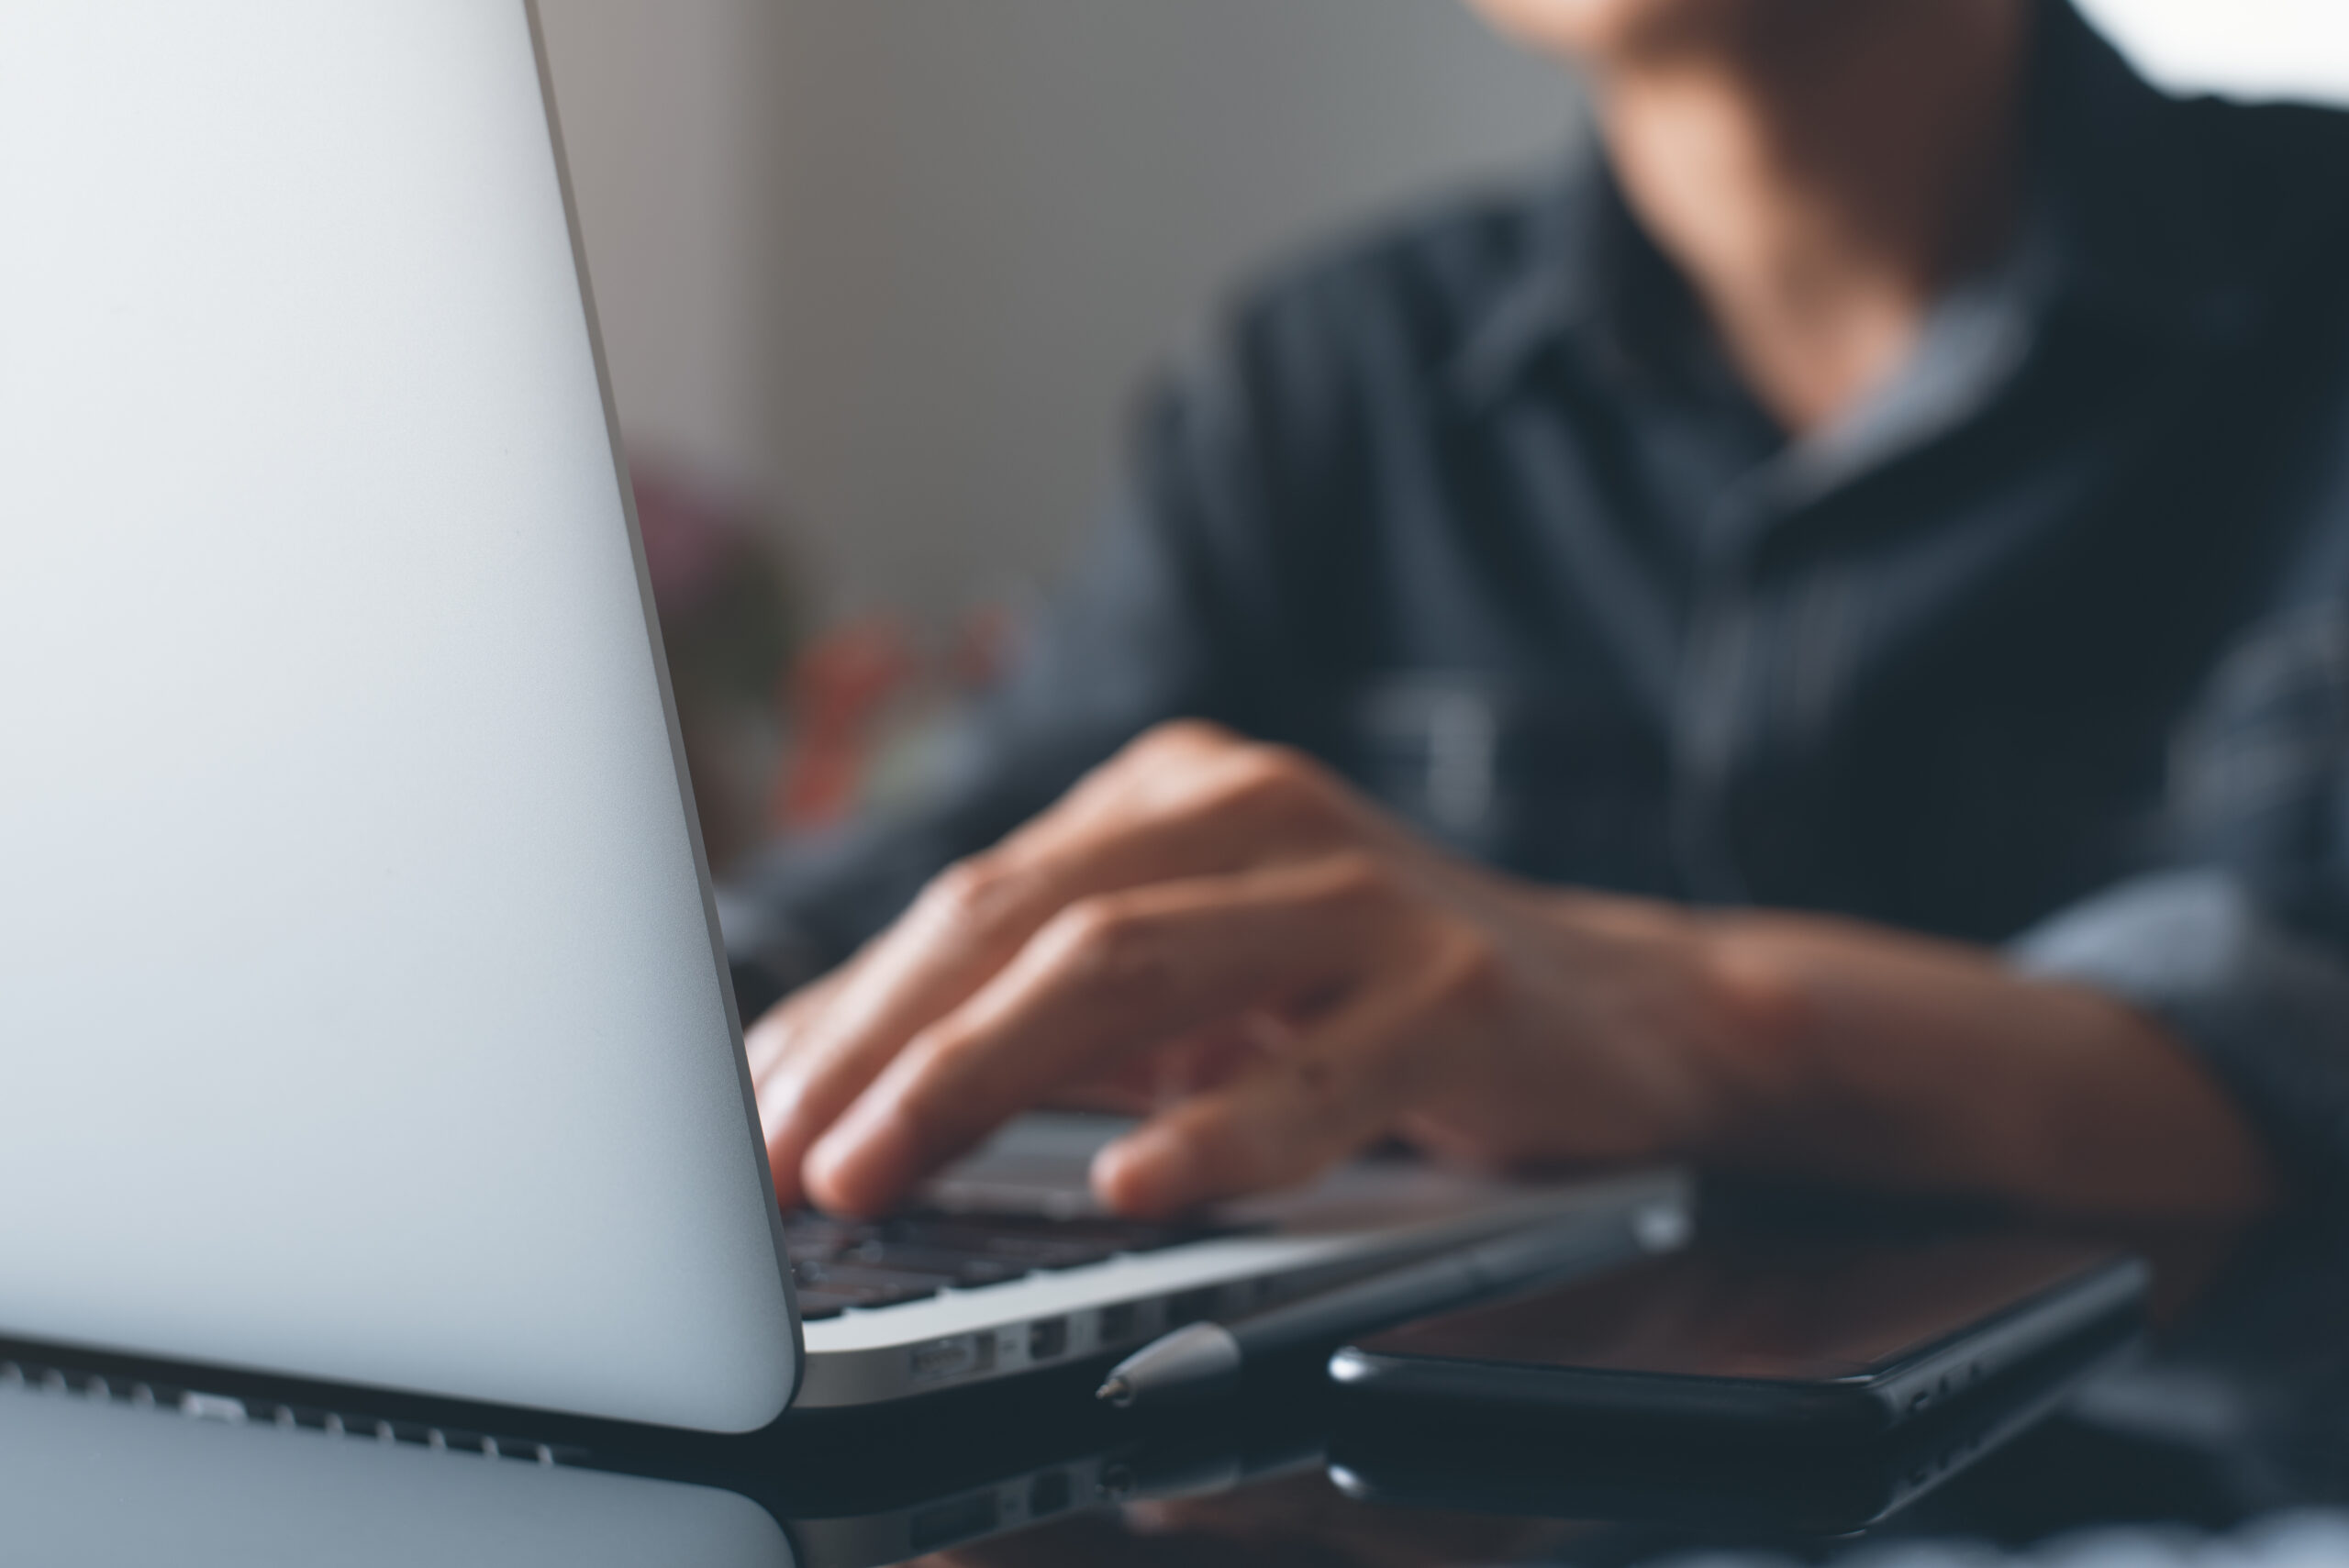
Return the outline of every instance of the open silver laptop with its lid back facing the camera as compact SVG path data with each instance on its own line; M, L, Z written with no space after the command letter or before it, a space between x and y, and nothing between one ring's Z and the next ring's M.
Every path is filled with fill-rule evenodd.
M1130 1225L1052 1120L782 1216L533 14L0 16L0 1336L742 1432L1675 1232L1379 1162Z

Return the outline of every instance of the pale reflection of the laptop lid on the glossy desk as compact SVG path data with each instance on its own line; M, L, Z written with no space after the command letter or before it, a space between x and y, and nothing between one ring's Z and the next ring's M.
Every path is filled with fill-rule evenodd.
M14 1376L7 1376L14 1373ZM735 1493L249 1420L230 1399L9 1366L0 1554L124 1568L794 1568Z

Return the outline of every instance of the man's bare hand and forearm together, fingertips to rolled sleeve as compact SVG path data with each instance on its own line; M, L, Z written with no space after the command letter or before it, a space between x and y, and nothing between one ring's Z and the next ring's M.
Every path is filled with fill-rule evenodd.
M2093 1209L2269 1190L2201 1070L2095 993L1853 922L1501 878L1198 723L940 876L749 1054L780 1197L843 1214L1078 1089L1153 1110L1092 1171L1128 1214L1299 1183L1386 1136Z

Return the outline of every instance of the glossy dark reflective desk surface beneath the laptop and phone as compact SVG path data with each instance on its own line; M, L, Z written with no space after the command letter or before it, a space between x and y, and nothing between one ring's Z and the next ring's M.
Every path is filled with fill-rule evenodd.
M1311 1368L1172 1425L1095 1411L1062 1378L918 1413L787 1418L740 1441L505 1422L493 1444L498 1420L479 1411L378 1401L388 1425L366 1437L348 1430L357 1415L322 1430L331 1392L0 1347L0 1556L1402 1568L1736 1549L1884 1563L1903 1545L2027 1552L2163 1526L2290 1528L2321 1554L2300 1561L2349 1561L2349 1512L2286 1516L2349 1505L2349 1228L2147 1244L2166 1319L2149 1352L2084 1361L2037 1404L2018 1394L1978 1432L1851 1476L1593 1451L1487 1467L1442 1434L1365 1427ZM223 1392L183 1399L190 1380ZM1818 1533L1875 1502L1900 1507L1856 1535Z

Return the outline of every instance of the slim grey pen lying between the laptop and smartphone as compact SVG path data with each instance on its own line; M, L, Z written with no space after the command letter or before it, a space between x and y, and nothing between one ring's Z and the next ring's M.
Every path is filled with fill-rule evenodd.
M1527 1284L1569 1268L1590 1268L1630 1251L1668 1251L1687 1237L1687 1216L1670 1204L1644 1204L1621 1225L1567 1225L1510 1232L1421 1263L1341 1284L1292 1300L1238 1324L1189 1324L1163 1333L1109 1368L1097 1397L1113 1406L1214 1394L1240 1378L1250 1361L1315 1340L1379 1329L1407 1317Z

